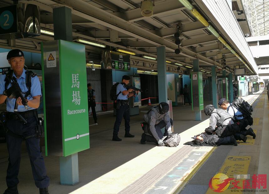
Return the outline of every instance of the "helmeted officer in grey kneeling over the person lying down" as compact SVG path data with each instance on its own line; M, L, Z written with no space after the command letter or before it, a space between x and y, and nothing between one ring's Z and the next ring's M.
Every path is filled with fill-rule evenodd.
M213 105L204 108L205 115L210 116L209 127L205 129L208 134L216 134L219 137L235 136L236 140L246 141L246 135L253 135L252 129L241 131L237 123L234 123L233 116L223 109L216 109ZM243 136L241 136L242 134Z

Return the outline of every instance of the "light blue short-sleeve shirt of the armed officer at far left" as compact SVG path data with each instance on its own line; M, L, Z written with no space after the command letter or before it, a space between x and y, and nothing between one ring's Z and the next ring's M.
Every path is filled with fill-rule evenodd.
M19 84L19 87L21 88L22 92L27 92L28 89L26 87L26 74L25 74L25 69L23 69L22 75L17 78L17 82ZM13 76L15 76L13 72ZM6 75L0 75L0 94L4 93L5 90L5 78ZM7 89L11 86L11 84L8 84ZM37 76L31 77L31 94L27 97L27 100L33 100L34 96L41 96L41 86L40 86L40 81ZM25 96L25 94L23 94ZM14 98L7 98L7 111L8 112L14 112L14 105L16 103L16 99ZM25 109L23 105L18 105L18 112L24 112L28 110L33 110L35 108L33 107L28 107L28 109Z

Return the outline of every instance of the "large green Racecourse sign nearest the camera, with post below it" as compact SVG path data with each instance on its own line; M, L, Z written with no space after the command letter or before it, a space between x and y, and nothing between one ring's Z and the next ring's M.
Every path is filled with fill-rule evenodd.
M85 46L47 41L41 44L41 54L45 154L61 156L61 184L74 185L79 181L77 152L90 147Z

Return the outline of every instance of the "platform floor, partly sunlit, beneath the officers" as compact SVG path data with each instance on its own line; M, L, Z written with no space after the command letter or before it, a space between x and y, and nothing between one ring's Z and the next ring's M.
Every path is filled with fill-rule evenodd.
M54 193L210 193L208 182L221 170L228 156L244 156L249 161L246 174L268 173L268 98L259 91L245 97L253 103L255 141L248 144L221 145L219 147L191 147L183 145L191 137L208 127L209 117L202 113L202 121L194 121L189 105L173 107L174 132L180 133L181 143L175 148L158 147L153 143L140 144L145 110L131 117L134 138L124 138L124 122L120 127L121 142L111 141L115 117L98 115L98 125L90 127L90 149L78 153L79 183L74 186L60 184L59 157L45 157L50 177L49 191ZM141 112L142 111L142 112ZM261 153L261 154L260 154ZM6 189L5 176L8 155L5 144L0 144L0 193ZM266 167L267 166L267 167ZM34 185L28 154L22 146L21 168L18 176L19 193L38 193ZM265 192L263 192L265 193Z

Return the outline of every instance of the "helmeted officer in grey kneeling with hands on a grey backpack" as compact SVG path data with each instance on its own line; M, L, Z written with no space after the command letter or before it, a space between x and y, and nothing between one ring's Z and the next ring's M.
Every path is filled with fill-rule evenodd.
M143 123L144 133L140 140L141 144L147 142L154 142L163 146L164 143L161 140L163 136L171 134L171 127L173 120L168 114L169 105L166 102L161 102L158 106L152 107L145 115ZM162 134L161 129L165 127L165 132ZM149 129L149 130L148 130Z

